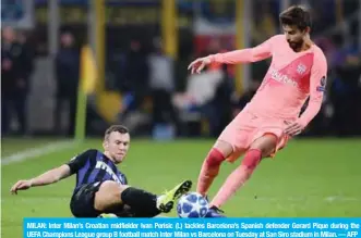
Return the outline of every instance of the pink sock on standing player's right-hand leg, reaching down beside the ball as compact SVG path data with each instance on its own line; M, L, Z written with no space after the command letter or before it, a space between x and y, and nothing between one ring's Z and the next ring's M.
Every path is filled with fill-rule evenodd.
M253 171L262 159L261 150L251 149L245 154L242 164L236 168L221 186L210 205L220 208L236 191L251 177Z

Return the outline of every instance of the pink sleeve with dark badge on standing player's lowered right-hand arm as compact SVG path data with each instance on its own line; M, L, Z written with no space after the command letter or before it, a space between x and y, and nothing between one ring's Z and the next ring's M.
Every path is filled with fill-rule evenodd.
M306 126L318 113L324 92L326 91L327 61L324 53L320 50L315 53L310 77L310 101L299 122Z

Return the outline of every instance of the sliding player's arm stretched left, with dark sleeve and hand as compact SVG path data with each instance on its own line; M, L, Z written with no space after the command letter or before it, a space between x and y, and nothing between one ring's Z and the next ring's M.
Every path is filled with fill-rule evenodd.
M86 151L77 156L74 156L69 163L52 168L50 171L47 171L37 177L25 180L19 180L16 184L12 186L10 191L16 195L17 190L26 190L29 189L31 187L51 185L61 179L64 179L73 175L82 166L84 166L84 164L88 159L88 153L89 151Z

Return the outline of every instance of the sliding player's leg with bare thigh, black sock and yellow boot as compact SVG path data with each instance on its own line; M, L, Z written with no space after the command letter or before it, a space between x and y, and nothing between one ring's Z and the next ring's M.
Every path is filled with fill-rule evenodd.
M168 213L173 208L175 201L186 193L192 187L192 181L185 180L161 196L147 192L143 189L120 186L116 181L104 181L95 193L94 208L99 212L115 211L121 205L131 208L132 216L154 217L160 213Z

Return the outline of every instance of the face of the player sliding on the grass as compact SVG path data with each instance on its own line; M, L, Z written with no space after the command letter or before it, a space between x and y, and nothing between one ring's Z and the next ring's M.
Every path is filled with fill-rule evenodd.
M116 163L121 163L130 146L130 135L112 131L108 139L104 141L104 149L108 152Z

